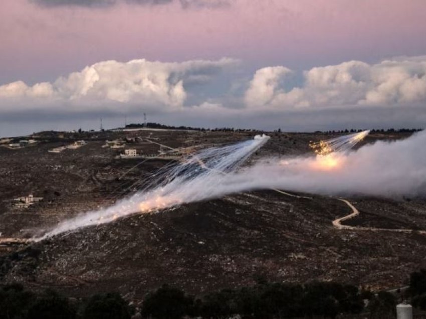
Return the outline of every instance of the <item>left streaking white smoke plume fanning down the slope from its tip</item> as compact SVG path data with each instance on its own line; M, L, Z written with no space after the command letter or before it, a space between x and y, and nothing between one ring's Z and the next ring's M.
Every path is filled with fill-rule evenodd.
M138 212L146 213L215 197L226 174L235 171L268 139L269 136L256 135L251 140L190 154L182 159L182 163L159 170L152 181L130 198L66 220L38 240L81 227L109 223Z

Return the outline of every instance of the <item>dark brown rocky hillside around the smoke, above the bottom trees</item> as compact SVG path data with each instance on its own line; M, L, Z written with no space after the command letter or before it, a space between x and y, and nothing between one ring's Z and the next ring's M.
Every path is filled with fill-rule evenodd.
M88 145L54 154L47 150L82 136L40 134L34 146L16 150L0 147L0 239L29 237L131 192L131 185L149 179L164 162L138 165L140 160L117 161L114 156L122 150L101 145L107 138L149 133L171 147L224 143L254 135L92 133L85 136ZM406 136L370 135L364 143ZM306 153L310 151L309 141L327 137L322 133L273 133L252 159ZM152 152L158 145L135 142L127 145L131 147ZM28 209L13 208L12 198L30 193L45 200ZM119 290L129 298L140 299L162 283L198 294L250 284L259 277L295 282L337 280L388 288L404 285L408 273L424 265L426 235L335 229L331 222L351 213L351 209L334 198L308 196L312 199L271 190L236 194L133 215L29 246L4 246L0 282L55 287L70 295ZM347 225L426 230L424 199L348 200L360 215L345 221Z

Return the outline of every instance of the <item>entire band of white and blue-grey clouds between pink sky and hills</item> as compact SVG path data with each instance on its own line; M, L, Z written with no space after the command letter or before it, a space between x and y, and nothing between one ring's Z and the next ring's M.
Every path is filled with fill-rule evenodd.
M348 61L312 68L300 79L284 66L261 68L247 77L244 65L229 58L103 61L52 82L1 85L0 126L66 119L75 127L99 116L122 125L122 114L137 116L143 110L170 125L419 128L426 125L425 64L426 57ZM236 82L237 90L232 87ZM5 130L2 134L9 134Z

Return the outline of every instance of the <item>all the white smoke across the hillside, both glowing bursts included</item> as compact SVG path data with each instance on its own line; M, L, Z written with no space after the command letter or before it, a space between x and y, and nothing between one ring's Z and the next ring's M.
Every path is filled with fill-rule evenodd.
M367 132L368 133L368 132ZM405 140L377 141L355 151L366 132L339 138L336 151L325 155L269 158L240 166L268 136L223 147L207 148L160 170L142 190L115 205L67 220L41 240L77 228L108 223L116 218L147 213L184 203L260 189L283 189L332 196L366 195L401 198L426 195L426 132ZM331 144L335 143L331 140ZM342 144L343 143L343 144Z

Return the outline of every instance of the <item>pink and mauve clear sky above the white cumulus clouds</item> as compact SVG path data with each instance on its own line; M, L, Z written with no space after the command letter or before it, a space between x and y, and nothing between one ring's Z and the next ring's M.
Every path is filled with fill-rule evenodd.
M424 0L235 0L225 8L44 8L0 2L0 84L135 58L242 59L296 69L426 53Z

